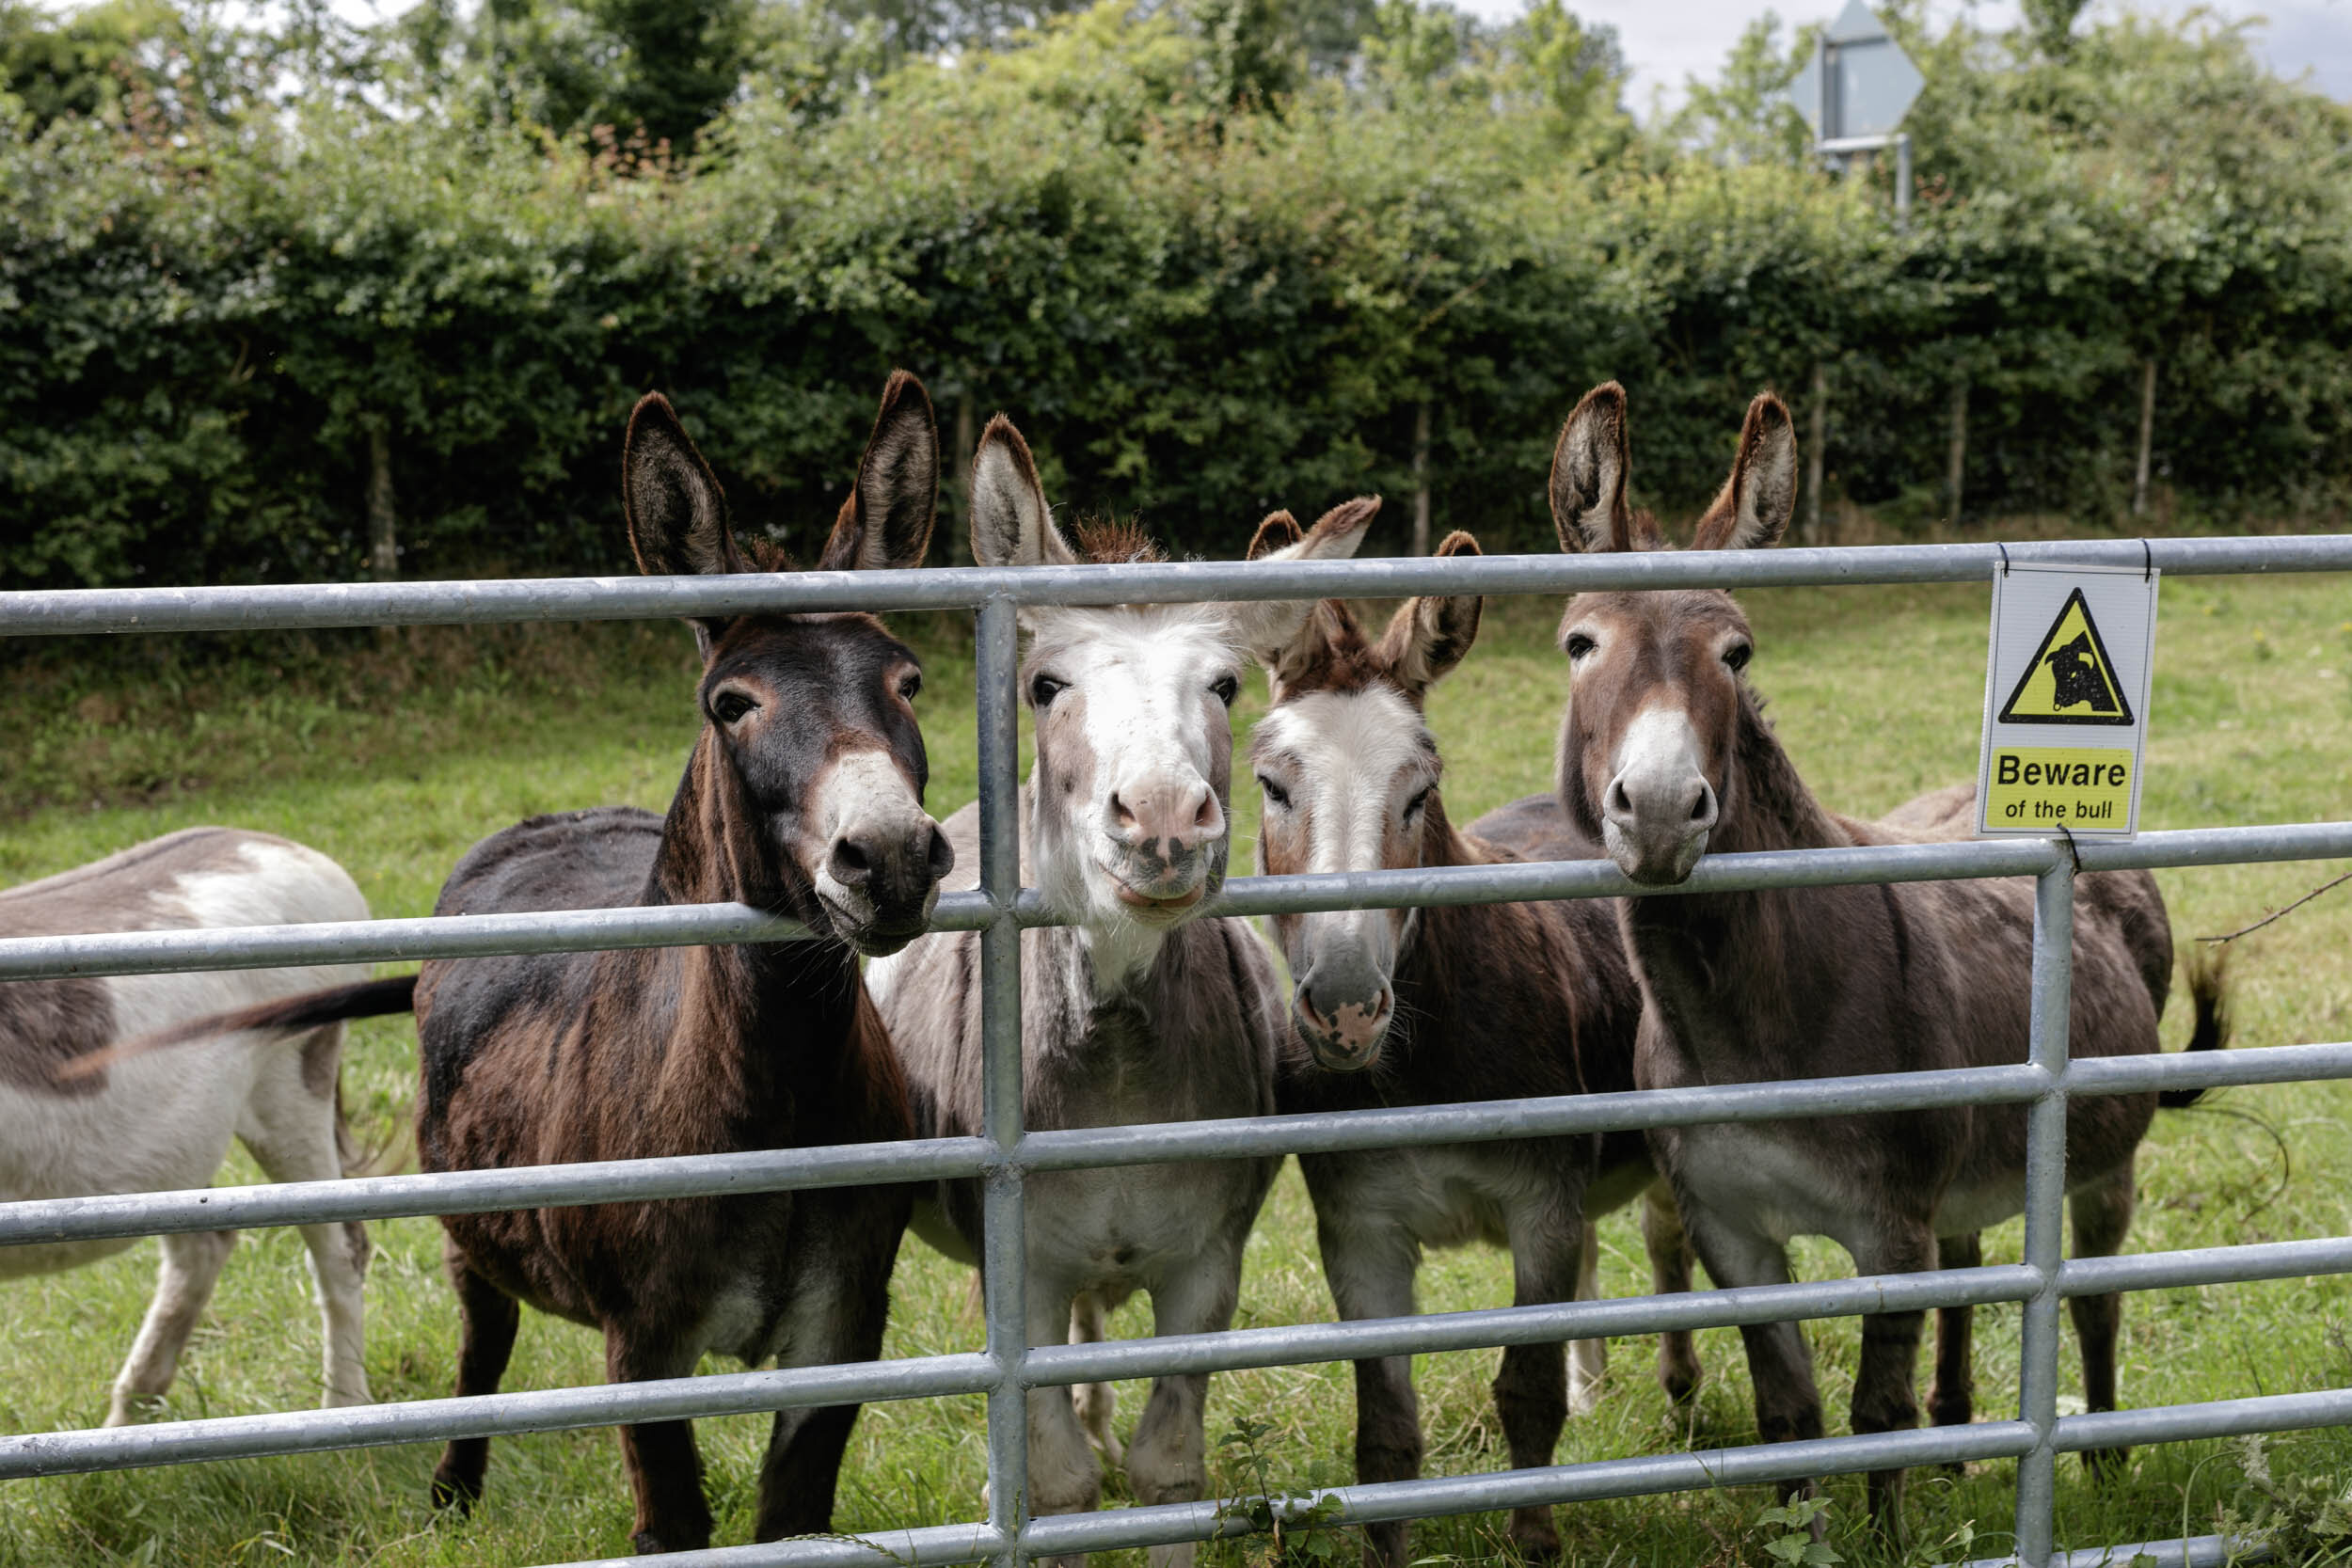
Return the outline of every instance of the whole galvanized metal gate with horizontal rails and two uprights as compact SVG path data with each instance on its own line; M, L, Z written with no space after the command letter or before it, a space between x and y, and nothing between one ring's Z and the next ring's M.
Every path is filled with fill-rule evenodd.
M1023 1509L1030 1387L1162 1373L1207 1373L1517 1342L1578 1340L1661 1328L1715 1328L1860 1312L2023 1302L2016 1420L1929 1427L1802 1443L1557 1465L1479 1476L1336 1488L1341 1523L1581 1502L1642 1493L1745 1486L1947 1460L2018 1460L2016 1556L2030 1568L2107 1561L2105 1547L2053 1542L2053 1467L2060 1453L2246 1432L2352 1425L2352 1389L2272 1394L2143 1410L2058 1415L2058 1302L2070 1295L2352 1272L2352 1239L2220 1246L2063 1262L2060 1211L2070 1095L2145 1093L2223 1084L2352 1077L2352 1044L2244 1048L2218 1056L2067 1060L2072 889L2079 870L2227 865L2352 856L2352 823L2145 832L2131 842L2072 846L2044 839L1813 849L1708 856L1679 889L1637 889L1609 863L1479 865L1416 872L1242 877L1218 912L1355 910L1508 903L1526 898L1672 898L1696 891L2034 877L2032 1053L2013 1067L1877 1074L1792 1084L1736 1084L1618 1095L1489 1100L1237 1121L1183 1121L1028 1133L1021 1126L1018 938L1054 924L1018 886L1018 658L1023 604L1141 604L1200 599L1399 597L1411 592L1562 595L1588 588L1762 588L1799 583L1985 581L1999 545L1870 550L1752 550L1733 555L1550 555L1374 559L1319 564L1181 562L1150 567L957 569L903 574L797 574L727 578L567 578L499 583L386 583L285 588L153 588L0 595L0 635L193 632L322 625L492 621L612 621L826 609L978 609L981 889L946 896L936 929L981 931L985 1025L985 1135L898 1145L776 1150L527 1171L393 1175L282 1187L214 1187L0 1206L0 1246L249 1229L390 1215L480 1213L614 1199L774 1192L880 1180L978 1175L988 1227L988 1349L983 1354L760 1371L668 1382L426 1399L350 1410L296 1410L162 1422L103 1432L0 1439L0 1479L87 1469L183 1465L249 1455L440 1441L449 1436L604 1427L614 1422L739 1415L844 1401L988 1396L990 1516L978 1523L887 1530L863 1540L793 1540L720 1547L663 1563L776 1563L873 1568L990 1561L1204 1540L1247 1526L1216 1502L1131 1507L1030 1519ZM2009 545L2016 562L2131 564L2169 574L2347 571L2352 538L2204 538ZM1955 724L1962 722L1955 715ZM2347 757L2352 764L2352 757ZM581 910L456 919L379 919L235 931L153 931L0 940L0 980L35 976L263 969L325 961L397 961L496 952L659 947L795 940L804 931L743 905ZM1764 1121L1931 1105L2027 1105L2025 1260L1788 1284L1693 1295L1559 1302L1392 1321L1308 1324L1232 1333L1023 1345L1023 1180L1033 1171L1155 1164L1308 1150L1367 1150L1482 1138L1595 1133L1604 1128ZM2227 1542L2192 1537L2136 1547L2159 1563L2220 1561ZM2112 1561L2129 1561L2117 1552Z

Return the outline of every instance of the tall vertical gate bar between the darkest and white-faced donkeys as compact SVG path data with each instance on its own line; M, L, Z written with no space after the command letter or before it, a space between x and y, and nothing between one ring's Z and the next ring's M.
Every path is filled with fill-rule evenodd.
M988 1523L1002 1542L997 1568L1021 1568L1028 1526L1028 1246L1021 1166L1021 623L1011 599L981 604L981 891L995 919L981 931L981 1117L997 1145L981 1208L981 1276L988 1298Z

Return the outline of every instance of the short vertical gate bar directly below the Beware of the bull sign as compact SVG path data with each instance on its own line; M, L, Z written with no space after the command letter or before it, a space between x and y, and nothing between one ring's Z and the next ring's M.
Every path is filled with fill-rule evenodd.
M2074 994L2074 860L2067 856L2034 882L2032 1063L2065 1072L2067 1006ZM2025 1302L2018 1347L2018 1420L2037 1441L2018 1460L2018 1561L2046 1568L2058 1507L2058 1265L2065 1260L2065 1088L2053 1086L2025 1112L2025 1262L2042 1269L2042 1291Z

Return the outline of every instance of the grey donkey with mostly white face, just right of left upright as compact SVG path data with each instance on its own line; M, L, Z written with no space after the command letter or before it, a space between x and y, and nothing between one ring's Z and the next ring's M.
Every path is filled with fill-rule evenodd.
M1350 501L1289 545L1287 559L1355 552L1376 501ZM1127 529L1063 538L1028 444L997 416L971 465L971 555L988 567L1157 559ZM1070 926L1021 933L1023 1117L1030 1128L1256 1117L1275 1107L1282 1004L1263 945L1240 919L1192 919L1225 879L1232 719L1249 658L1265 658L1305 604L1030 609L1021 672L1037 715L1037 764L1021 792L1023 882ZM948 818L976 886L978 806ZM936 933L868 966L908 1070L917 1135L981 1131L978 938ZM1192 1161L1028 1178L1028 1335L1150 1291L1155 1333L1232 1321L1242 1246L1275 1159ZM981 1187L941 1185L915 1229L978 1260ZM1207 1486L1207 1378L1160 1378L1124 1450L1141 1502L1190 1502ZM1089 1427L1120 1462L1110 1389L1030 1394L1030 1507L1091 1509L1101 1467ZM1152 1547L1155 1568L1192 1547Z

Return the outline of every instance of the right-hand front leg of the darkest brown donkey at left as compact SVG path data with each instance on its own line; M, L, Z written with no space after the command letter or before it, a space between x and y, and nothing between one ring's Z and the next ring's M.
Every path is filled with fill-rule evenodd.
M802 1192L793 1220L790 1298L776 1366L880 1361L906 1201L891 1192ZM833 1495L856 1422L858 1406L776 1410L760 1462L753 1540L833 1528Z

